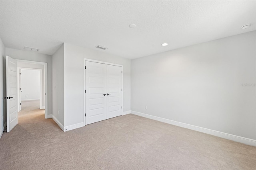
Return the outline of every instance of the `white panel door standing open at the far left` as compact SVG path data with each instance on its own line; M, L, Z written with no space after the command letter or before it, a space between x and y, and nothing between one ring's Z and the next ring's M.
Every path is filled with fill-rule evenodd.
M17 61L6 56L7 132L18 124Z

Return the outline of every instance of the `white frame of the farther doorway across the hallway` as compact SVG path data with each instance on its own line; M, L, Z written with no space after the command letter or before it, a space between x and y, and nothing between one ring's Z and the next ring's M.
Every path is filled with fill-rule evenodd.
M20 73L20 70L37 70L40 71L40 109L44 109L45 107L42 107L42 101L43 101L43 96L42 96L42 92L43 92L43 77L42 77L42 69L40 68L25 68L25 67L18 67L18 71ZM20 96L20 76L21 74L18 74L18 96ZM45 86L45 84L44 84ZM22 90L22 89L21 89ZM20 97L20 101L18 102L18 104L21 103L21 97ZM18 109L18 112L20 112L20 109Z

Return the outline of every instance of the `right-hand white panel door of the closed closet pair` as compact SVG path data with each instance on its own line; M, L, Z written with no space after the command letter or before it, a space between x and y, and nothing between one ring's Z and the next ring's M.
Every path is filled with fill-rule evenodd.
M106 117L122 115L122 67L107 66L107 110Z

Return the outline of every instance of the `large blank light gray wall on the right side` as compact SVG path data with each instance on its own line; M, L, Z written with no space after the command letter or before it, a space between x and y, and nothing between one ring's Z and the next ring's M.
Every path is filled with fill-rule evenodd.
M256 139L255 58L256 31L134 59L131 110Z

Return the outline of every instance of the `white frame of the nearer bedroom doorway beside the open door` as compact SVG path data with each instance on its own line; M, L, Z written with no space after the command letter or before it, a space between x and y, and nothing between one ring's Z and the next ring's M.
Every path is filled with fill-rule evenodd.
M24 63L31 63L31 64L41 64L44 65L44 118L48 118L48 70L47 70L47 62L37 62L37 61L30 61L30 60L18 60L17 62L24 62ZM51 118L51 117L49 117Z

